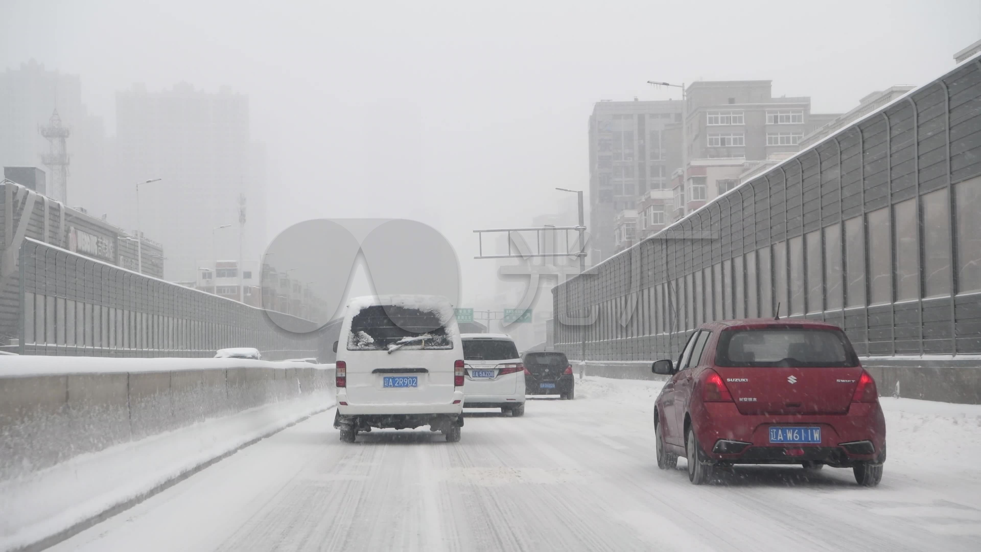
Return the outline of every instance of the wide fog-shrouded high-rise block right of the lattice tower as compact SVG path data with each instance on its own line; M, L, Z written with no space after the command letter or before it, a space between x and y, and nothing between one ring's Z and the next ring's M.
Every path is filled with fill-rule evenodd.
M120 178L116 209L163 243L165 277L193 280L197 269L239 257L239 196L246 198L244 260L265 247L265 151L249 136L248 97L180 83L149 92L133 85L116 97ZM219 228L231 225L228 228ZM216 259L217 257L217 259Z

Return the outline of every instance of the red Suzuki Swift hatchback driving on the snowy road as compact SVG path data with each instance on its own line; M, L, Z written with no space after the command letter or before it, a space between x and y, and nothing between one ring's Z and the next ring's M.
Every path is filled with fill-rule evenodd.
M657 467L688 459L689 479L717 467L798 464L852 468L874 486L886 460L886 420L872 376L833 324L751 319L703 324L654 405ZM694 460L697 459L697 460Z

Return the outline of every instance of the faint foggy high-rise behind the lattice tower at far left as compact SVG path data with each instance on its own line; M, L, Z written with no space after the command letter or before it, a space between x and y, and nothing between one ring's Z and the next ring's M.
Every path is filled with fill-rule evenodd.
M102 118L89 115L81 103L77 75L47 70L34 60L0 73L0 166L44 166L50 144L40 128L51 124L55 111L65 131L71 132L68 203L83 205L93 214L105 213L101 187L113 180L112 142L105 136ZM58 169L46 170L53 174ZM51 191L49 195L63 199L54 187Z

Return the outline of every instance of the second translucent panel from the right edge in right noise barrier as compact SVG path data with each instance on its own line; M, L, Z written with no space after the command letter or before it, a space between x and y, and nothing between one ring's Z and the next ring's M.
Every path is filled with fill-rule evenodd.
M947 190L924 193L923 266L925 297L951 294L951 203ZM977 216L975 214L975 216Z

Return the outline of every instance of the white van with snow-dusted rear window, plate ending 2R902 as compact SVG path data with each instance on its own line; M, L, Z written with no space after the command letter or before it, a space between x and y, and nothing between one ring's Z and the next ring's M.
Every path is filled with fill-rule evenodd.
M335 343L340 440L358 431L429 425L447 441L463 426L463 345L453 307L432 296L356 298Z

